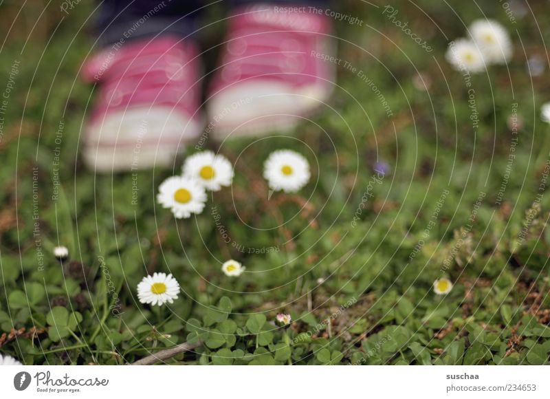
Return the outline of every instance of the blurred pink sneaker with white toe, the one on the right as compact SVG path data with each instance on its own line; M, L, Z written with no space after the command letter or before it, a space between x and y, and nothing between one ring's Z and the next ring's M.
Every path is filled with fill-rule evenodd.
M230 21L221 67L208 98L214 136L287 129L329 98L336 64L328 17L241 8Z

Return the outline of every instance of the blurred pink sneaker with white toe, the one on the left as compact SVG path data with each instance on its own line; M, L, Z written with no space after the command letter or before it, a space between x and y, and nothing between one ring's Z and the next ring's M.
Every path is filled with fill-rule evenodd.
M171 37L114 46L85 63L100 83L85 131L85 163L98 172L170 166L180 144L195 142L201 71L195 43Z

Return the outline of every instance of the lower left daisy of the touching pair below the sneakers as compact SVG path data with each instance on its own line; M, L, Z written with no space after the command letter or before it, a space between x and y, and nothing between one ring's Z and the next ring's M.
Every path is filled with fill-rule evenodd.
M168 177L159 186L157 201L164 208L170 208L175 217L190 217L191 213L201 213L206 202L204 188L187 177Z

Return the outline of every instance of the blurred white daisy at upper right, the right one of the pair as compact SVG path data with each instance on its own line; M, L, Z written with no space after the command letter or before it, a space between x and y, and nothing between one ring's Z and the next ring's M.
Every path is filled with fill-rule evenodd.
M470 36L487 63L505 64L511 58L511 40L500 23L492 19L478 19L470 25Z

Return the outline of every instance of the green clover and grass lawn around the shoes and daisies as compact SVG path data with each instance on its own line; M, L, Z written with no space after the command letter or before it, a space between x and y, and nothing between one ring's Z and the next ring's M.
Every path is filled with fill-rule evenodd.
M0 353L125 364L187 341L199 346L165 363L548 363L550 19L547 1L529 3L335 4L361 23L336 22L331 102L286 136L208 141L234 162L233 186L175 220L155 195L181 160L117 175L80 161L91 1L68 14L61 1L3 1ZM470 77L472 106L444 54L484 16L509 30L514 57ZM207 72L221 26L200 38ZM263 160L285 148L307 157L311 182L268 199ZM246 272L226 277L228 259ZM151 309L136 286L155 271L182 292ZM454 283L446 296L432 289L440 277Z

